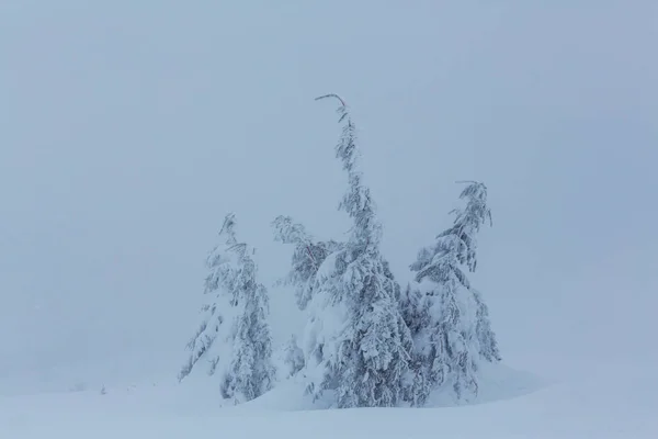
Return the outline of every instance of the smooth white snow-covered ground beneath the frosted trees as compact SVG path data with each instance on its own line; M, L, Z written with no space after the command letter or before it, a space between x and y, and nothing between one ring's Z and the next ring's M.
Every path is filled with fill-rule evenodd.
M541 361L540 361L541 360ZM656 362L519 359L486 371L481 399L412 409L313 409L287 382L251 403L220 407L212 380L0 396L0 438L624 438L658 437ZM567 373L568 372L568 373Z

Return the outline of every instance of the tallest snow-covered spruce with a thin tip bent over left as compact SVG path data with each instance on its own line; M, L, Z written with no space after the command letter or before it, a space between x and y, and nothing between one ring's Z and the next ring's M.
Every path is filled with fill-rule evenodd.
M397 297L399 286L379 251L382 226L358 167L355 127L344 102L336 156L349 189L339 209L353 219L349 240L320 264L308 305L304 352L307 393L333 394L333 406L394 406L404 396L411 337Z

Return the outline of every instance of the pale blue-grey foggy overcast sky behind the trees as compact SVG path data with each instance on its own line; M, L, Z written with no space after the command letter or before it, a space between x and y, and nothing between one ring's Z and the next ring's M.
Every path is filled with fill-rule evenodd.
M344 236L329 92L401 282L454 181L483 180L503 354L635 356L658 331L656 42L640 0L3 1L0 371L182 360L227 212L268 285L274 216Z

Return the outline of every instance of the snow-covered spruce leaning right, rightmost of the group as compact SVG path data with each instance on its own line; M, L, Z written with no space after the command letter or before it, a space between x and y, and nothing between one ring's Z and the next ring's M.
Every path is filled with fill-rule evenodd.
M451 212L453 226L421 249L411 264L416 277L406 291L402 314L415 340L415 405L424 404L430 392L441 387L452 387L457 401L477 395L480 360L500 360L487 306L463 270L475 271L476 234L480 225L491 223L487 188L468 183L460 195L465 209Z

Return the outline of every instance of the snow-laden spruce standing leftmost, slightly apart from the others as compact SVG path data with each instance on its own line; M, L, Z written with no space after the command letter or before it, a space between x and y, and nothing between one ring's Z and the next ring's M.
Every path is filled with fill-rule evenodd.
M235 225L235 215L228 214L219 232L224 243L206 260L211 273L204 293L209 300L202 307L204 317L188 345L192 353L179 380L203 359L209 375L219 371L222 395L239 403L270 390L274 370L268 292L256 281L253 250L238 243Z

